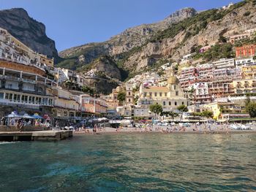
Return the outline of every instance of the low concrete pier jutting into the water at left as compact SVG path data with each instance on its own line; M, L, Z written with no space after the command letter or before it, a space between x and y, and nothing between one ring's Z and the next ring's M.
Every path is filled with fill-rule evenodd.
M60 141L73 136L72 131L4 131L0 132L0 142L17 141Z

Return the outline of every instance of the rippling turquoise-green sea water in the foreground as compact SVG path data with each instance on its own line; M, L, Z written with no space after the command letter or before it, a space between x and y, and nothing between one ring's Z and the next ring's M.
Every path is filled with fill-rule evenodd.
M0 191L256 191L256 134L1 143Z

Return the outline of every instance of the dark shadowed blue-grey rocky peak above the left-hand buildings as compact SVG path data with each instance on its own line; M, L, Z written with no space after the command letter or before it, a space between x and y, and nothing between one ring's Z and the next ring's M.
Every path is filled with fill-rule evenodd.
M55 42L45 34L45 25L29 17L21 8L0 10L0 27L7 29L32 50L58 58Z

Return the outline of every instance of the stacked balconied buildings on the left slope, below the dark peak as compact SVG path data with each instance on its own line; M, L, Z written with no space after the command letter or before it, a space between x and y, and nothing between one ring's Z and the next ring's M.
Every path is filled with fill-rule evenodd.
M62 82L83 86L84 77L53 66L53 59L34 52L0 28L0 116L13 111L76 120L106 114L104 99L62 88Z

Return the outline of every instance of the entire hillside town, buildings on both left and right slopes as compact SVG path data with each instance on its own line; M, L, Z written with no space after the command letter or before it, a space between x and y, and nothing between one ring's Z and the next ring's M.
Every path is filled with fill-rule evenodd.
M235 47L236 42L255 38L256 28L225 37L234 45L236 58L221 58L202 63L197 53L167 63L120 83L110 95L83 91L85 78L94 72L79 74L56 68L53 58L34 52L4 28L0 29L0 116L13 112L39 115L59 126L89 118L128 118L170 120L176 122L206 120L204 111L214 120L253 120L245 110L246 99L256 99L256 45ZM214 45L200 47L206 53ZM84 57L80 56L80 60ZM79 88L79 89L78 89ZM162 114L151 112L160 104ZM184 111L178 107L185 106ZM161 117L160 117L161 116ZM209 117L208 117L209 118Z

